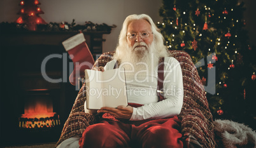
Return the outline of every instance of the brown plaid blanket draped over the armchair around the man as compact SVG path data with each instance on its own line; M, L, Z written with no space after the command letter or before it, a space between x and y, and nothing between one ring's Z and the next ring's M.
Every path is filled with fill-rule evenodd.
M107 62L112 60L114 53L115 51L103 53L96 60L92 69L106 65ZM169 56L180 62L183 74L183 107L178 118L181 120L181 133L185 140L185 147L215 147L213 118L201 79L190 55L184 51L172 50L169 51ZM85 85L83 84L56 146L67 138L75 135L82 136L87 126L97 123L98 116L85 113L83 107L85 100Z

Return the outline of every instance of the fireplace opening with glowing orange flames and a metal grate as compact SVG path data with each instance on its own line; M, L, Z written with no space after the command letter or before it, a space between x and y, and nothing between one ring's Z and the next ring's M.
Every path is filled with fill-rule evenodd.
M53 128L60 125L59 115L53 112L53 99L47 89L28 90L20 128Z

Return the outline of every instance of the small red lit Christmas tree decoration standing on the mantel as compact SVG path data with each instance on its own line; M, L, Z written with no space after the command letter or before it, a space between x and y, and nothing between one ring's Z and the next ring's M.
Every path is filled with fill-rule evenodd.
M28 30L36 30L38 24L46 24L43 18L39 17L40 14L43 14L43 11L39 8L38 0L23 0L20 1L20 6L22 9L18 11L18 15L21 15L16 22L18 24L27 25Z

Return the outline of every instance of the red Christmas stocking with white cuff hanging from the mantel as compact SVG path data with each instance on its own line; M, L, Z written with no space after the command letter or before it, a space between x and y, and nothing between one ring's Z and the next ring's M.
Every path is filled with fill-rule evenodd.
M74 64L74 71L69 76L69 82L76 85L78 83L78 78L85 76L85 69L92 69L94 58L85 43L83 33L70 37L62 42L62 44L65 50L68 51Z

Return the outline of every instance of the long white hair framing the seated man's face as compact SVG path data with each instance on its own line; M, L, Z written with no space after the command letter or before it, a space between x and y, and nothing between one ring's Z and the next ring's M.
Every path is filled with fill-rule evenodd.
M124 53L123 50L124 47L127 47L127 29L128 25L133 20L146 20L150 25L153 32L153 46L155 46L155 51L152 51L152 53L156 53L157 57L166 57L168 55L167 48L164 46L164 37L160 33L160 29L157 28L157 26L153 23L152 18L150 18L148 15L141 14L141 15L129 15L125 18L124 24L122 27L122 30L120 31L119 39L118 39L118 45L116 49L116 53L114 55L114 58L122 57L122 54Z

